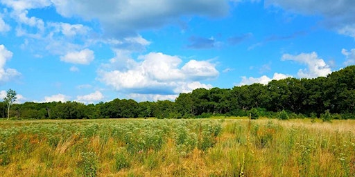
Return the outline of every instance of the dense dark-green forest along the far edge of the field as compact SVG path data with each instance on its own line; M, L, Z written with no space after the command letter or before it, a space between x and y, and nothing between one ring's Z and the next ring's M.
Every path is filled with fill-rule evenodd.
M252 84L234 88L198 88L180 93L175 102L136 102L114 99L98 104L79 102L25 102L13 104L12 118L207 118L211 115L245 116L252 111L275 118L278 112L289 118L354 118L355 66L348 66L327 77L272 80L267 85ZM7 109L0 102L0 117Z

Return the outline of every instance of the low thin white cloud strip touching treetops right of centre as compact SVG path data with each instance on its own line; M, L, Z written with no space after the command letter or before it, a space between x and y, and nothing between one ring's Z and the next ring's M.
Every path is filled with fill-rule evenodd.
M268 84L272 80L283 80L286 79L287 77L292 77L291 75L284 75L281 73L274 73L273 77L270 78L266 75L263 75L261 77L241 77L241 82L238 84L239 86L243 85L250 85L254 83L260 83L260 84Z

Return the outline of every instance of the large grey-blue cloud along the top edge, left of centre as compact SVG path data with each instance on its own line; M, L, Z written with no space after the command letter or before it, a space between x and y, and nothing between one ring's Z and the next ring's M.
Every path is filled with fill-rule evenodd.
M137 35L137 31L178 24L182 16L220 17L228 12L227 1L52 1L64 17L98 19L103 30L112 36Z

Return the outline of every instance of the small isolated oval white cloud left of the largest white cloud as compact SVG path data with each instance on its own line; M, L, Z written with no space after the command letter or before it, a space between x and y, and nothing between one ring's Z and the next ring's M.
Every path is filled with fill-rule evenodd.
M72 64L90 64L94 60L94 51L86 48L78 52L69 52L67 55L60 57L60 60Z

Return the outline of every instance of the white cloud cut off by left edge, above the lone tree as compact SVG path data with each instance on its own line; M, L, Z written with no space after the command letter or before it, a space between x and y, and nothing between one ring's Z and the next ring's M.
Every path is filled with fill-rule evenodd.
M8 82L14 77L21 75L13 68L5 68L6 61L12 58L12 52L6 49L5 46L0 45L0 84L1 82Z

